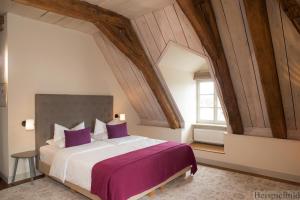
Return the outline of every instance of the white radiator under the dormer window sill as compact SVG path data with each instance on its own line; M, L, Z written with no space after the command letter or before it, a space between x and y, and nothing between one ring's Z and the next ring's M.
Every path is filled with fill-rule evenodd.
M209 129L194 129L194 141L210 144L224 145L225 131L209 130Z

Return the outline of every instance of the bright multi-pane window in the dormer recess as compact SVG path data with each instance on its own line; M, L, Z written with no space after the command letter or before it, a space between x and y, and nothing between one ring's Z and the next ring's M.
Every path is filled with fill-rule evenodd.
M197 80L197 122L225 124L223 110L212 80Z

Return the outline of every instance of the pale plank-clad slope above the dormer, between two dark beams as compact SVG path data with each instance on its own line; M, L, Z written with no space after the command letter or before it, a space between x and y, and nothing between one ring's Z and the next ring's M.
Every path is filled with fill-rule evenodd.
M170 42L175 42L182 48L193 51L210 63L210 58L191 23L177 4L170 4L160 10L137 17L131 20L131 23L155 68L157 68L160 58ZM212 77L214 77L213 69L210 68L209 70ZM159 70L157 70L157 73L161 76ZM164 78L161 77L161 79L164 82ZM169 91L167 86L166 91ZM174 105L174 107L177 106ZM223 110L226 113L224 106Z

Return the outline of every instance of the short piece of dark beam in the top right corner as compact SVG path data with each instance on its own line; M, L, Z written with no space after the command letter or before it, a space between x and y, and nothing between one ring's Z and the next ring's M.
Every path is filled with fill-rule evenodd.
M281 0L282 9L294 24L300 34L300 1L298 0Z

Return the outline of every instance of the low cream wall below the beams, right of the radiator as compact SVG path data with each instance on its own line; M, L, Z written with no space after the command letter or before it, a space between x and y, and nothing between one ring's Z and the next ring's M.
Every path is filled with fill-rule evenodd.
M300 141L225 134L225 154L194 152L202 163L300 182Z

